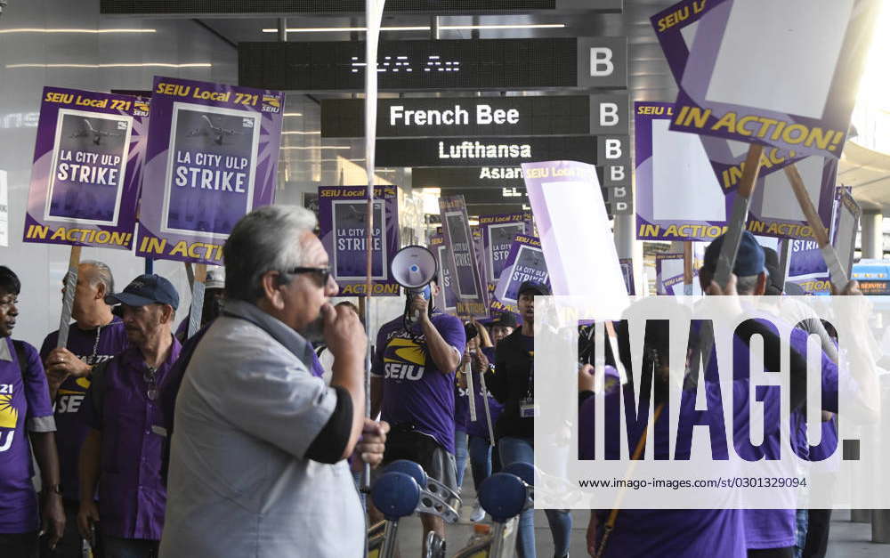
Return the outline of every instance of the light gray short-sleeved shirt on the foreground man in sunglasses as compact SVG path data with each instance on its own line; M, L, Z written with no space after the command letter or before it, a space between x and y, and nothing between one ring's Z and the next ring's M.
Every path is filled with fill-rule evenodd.
M226 303L176 400L163 558L362 554L349 466L304 457L336 407L311 352L255 305Z

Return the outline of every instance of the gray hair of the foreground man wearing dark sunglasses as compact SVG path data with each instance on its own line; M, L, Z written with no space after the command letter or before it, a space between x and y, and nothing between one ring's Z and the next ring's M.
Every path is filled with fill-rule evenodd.
M263 296L263 274L303 265L298 239L316 223L315 214L300 206L263 206L242 217L223 247L226 296L253 303Z

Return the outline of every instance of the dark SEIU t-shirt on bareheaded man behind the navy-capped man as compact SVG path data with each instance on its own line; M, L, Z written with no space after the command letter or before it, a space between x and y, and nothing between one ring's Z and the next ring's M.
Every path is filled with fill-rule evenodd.
M40 360L56 347L59 331L53 331L44 339L40 347ZM123 352L129 346L126 340L124 322L117 316L111 323L101 328L84 330L72 324L69 328L67 348L78 359L93 366ZM87 426L77 411L83 405L86 390L90 387L90 378L69 377L59 386L56 393L55 409L56 448L59 449L59 473L62 495L68 500L80 499L80 481L77 477L77 459L80 457L80 446L84 443Z

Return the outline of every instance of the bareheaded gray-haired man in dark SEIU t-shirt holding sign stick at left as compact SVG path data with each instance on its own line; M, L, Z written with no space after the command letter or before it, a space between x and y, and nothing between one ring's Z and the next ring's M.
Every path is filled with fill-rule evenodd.
M62 280L62 295L65 280ZM105 296L114 292L114 277L102 262L85 261L77 267L77 288L71 308L74 323L69 328L68 344L57 348L59 331L44 339L40 360L44 362L53 401L56 446L59 450L62 502L68 518L64 537L51 551L41 542L43 558L80 558L83 541L77 532L80 507L77 458L89 430L77 411L92 382L93 366L101 364L129 346L124 322L111 313Z

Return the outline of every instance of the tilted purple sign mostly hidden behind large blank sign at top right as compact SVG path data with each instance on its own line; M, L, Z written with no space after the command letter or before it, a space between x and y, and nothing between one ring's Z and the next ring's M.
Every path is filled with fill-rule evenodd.
M725 0L683 0L668 6L651 17L652 28L659 39L661 50L667 59L667 66L677 84L682 83L686 62L689 61L690 44L699 27L699 22L709 11ZM748 154L748 143L727 142L722 138L703 135L701 144L714 173L725 191L733 191L739 186L742 163ZM761 159L761 175L774 173L801 158L794 150L770 148Z

